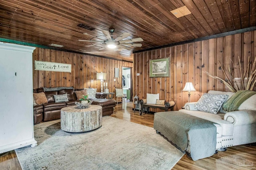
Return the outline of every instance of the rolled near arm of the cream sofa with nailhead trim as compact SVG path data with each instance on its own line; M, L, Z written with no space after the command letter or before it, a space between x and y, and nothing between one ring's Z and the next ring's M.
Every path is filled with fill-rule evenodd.
M256 123L256 110L230 111L224 115L224 120L236 126Z

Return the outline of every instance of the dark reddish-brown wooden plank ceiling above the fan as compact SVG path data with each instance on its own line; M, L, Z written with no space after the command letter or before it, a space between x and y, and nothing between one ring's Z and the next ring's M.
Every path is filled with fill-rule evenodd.
M191 14L176 18L170 11L182 6ZM0 0L0 38L132 61L132 51L256 26L255 6L256 0ZM110 28L116 37L141 37L142 47L99 51L104 45L78 41L106 40L101 30Z

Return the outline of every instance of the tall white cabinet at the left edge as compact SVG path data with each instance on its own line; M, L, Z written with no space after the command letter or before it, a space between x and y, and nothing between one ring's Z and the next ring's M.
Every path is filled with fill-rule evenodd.
M0 153L37 145L32 101L34 49L0 42Z

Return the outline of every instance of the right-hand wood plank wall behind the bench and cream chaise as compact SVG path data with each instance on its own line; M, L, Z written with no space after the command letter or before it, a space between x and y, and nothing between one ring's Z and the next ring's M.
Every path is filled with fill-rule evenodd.
M204 71L224 78L218 64L232 66L238 72L238 56L244 66L248 56L254 60L256 55L256 31L228 35L194 43L187 43L163 49L134 54L134 92L140 99L147 93L160 94L162 100L176 102L175 110L188 102L188 92L183 92L186 82L192 82L196 92L191 92L190 102L196 102L209 90L228 91L225 85L207 76ZM149 78L149 60L170 57L170 77ZM234 63L234 66L232 64ZM140 76L136 76L140 73ZM135 94L135 93L134 93ZM160 111L151 109L151 111Z

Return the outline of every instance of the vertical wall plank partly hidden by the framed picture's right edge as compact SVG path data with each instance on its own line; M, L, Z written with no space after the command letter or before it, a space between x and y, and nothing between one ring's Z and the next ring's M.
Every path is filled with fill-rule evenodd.
M170 80L172 78L172 75L171 75L171 72L172 72L171 71L171 69L172 69L171 68L171 48L167 47L167 48L165 48L165 50L166 50L166 57L169 57L169 74L170 74L170 76L168 78L166 78L166 80L165 80L165 86L166 86L165 100L166 100L166 102L168 102L168 101L171 101L171 82L170 82Z

